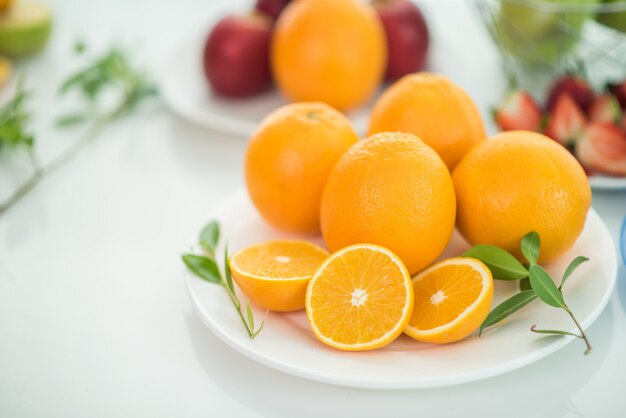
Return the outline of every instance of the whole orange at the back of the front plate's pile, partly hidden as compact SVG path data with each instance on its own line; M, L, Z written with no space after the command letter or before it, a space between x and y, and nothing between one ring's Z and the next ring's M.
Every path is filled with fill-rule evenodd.
M420 137L450 170L486 136L480 112L467 93L432 73L404 76L374 105L368 135L395 131Z

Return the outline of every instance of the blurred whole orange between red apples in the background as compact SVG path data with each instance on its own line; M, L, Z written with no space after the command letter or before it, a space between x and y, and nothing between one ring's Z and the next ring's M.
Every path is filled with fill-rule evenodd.
M274 78L292 101L359 106L376 90L386 62L382 24L373 7L358 0L294 1L274 29Z

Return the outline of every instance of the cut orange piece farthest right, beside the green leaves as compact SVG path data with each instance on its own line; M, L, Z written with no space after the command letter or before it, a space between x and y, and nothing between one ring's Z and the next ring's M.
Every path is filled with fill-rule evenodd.
M493 279L469 257L441 261L413 278L415 306L404 332L418 341L462 340L485 320L493 301Z

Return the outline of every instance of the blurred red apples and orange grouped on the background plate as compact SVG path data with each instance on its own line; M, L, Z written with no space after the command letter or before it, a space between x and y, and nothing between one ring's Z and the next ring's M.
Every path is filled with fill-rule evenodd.
M249 97L273 84L289 101L346 111L384 80L424 67L429 34L408 0L258 0L211 28L203 50L210 88Z

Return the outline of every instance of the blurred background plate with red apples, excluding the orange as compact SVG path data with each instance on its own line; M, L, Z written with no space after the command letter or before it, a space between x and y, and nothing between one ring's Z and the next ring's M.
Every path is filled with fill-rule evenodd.
M358 106L341 109L363 134L369 105L383 84L426 65L428 26L419 7L409 0L340 1L371 9L380 20L387 46L385 71L372 94ZM222 17L191 33L168 54L159 71L168 107L199 126L250 137L265 115L287 102L274 82L270 56L275 28L293 3L257 0L249 13Z

